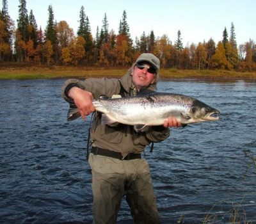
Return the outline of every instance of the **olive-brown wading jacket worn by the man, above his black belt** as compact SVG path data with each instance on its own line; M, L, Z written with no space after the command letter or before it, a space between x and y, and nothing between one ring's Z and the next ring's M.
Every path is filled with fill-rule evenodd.
M126 74L121 79L88 78L85 81L68 79L62 87L62 97L70 102L72 99L65 95L68 84L76 84L79 88L91 92L93 99L100 95L112 97L120 93L121 84L125 97L136 94L136 88L132 83L132 77ZM149 86L149 89L152 87ZM96 113L91 128L91 141L93 146L106 148L115 152L121 152L125 157L129 152L141 153L146 145L152 142L163 141L170 135L170 129L163 126L150 126L141 132L134 131L133 126L124 124L103 125L100 121L100 113Z

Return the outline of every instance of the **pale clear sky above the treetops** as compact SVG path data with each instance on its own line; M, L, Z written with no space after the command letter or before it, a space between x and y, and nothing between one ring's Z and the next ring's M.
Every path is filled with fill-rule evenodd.
M17 25L19 0L7 0L8 13ZM123 12L127 13L127 23L131 38L140 38L143 31L161 37L167 35L174 44L180 30L184 46L207 42L210 38L217 44L227 28L230 36L231 23L234 23L237 45L252 39L256 41L256 1L255 0L26 0L28 14L33 15L44 31L48 20L48 7L52 5L54 20L65 20L76 34L79 27L79 12L84 6L92 35L97 26L102 27L106 13L109 31L118 34Z

